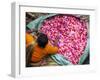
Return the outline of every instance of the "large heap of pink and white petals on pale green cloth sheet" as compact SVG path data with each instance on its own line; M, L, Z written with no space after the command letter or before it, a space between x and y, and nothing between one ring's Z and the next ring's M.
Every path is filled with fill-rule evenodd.
M54 45L58 39L58 54L78 64L87 44L86 22L72 15L59 14L44 20L40 31L47 34Z

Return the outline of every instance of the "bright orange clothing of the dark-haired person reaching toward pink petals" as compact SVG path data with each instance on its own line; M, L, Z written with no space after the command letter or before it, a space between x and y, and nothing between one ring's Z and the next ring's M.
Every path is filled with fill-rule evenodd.
M33 37L30 34L26 34L26 45L29 45L30 43L35 42L35 40L36 40L35 37ZM58 48L51 45L50 42L48 42L48 44L46 45L45 48L41 48L38 46L38 43L35 43L31 61L32 62L39 62L45 56L47 56L49 54L55 54L55 53L57 53L57 51L58 51Z

